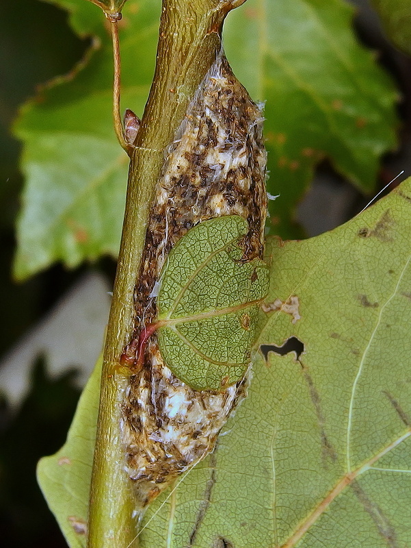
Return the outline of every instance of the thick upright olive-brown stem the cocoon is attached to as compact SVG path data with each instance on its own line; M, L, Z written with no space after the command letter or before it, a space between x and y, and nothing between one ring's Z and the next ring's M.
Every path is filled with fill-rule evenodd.
M120 367L120 356L133 333L134 288L163 151L174 138L189 101L220 51L224 17L243 1L163 0L155 76L131 154L122 240L107 326L90 490L88 548L137 546L133 493L124 471L121 434L121 406L129 377ZM113 44L118 45L114 38ZM120 60L116 61L116 53L114 59L118 62L114 93L118 133Z

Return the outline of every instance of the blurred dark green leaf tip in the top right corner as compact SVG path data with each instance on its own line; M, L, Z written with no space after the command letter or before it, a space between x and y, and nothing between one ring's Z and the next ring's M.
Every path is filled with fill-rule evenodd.
M411 5L408 0L372 0L394 44L411 55Z

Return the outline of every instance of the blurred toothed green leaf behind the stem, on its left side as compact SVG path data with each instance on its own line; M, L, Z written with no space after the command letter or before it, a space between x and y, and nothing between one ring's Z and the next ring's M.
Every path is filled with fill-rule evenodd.
M23 279L57 260L77 266L116 257L129 158L111 119L112 51L105 17L85 0L64 0L79 34L95 34L87 66L25 105L16 134L25 141L27 185L18 221L14 273ZM122 104L141 114L153 77L160 2L128 2L119 23Z

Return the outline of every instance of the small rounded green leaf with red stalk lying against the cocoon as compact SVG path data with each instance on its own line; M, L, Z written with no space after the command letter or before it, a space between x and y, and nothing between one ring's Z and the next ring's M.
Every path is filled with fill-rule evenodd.
M258 336L258 311L269 271L242 262L246 219L204 221L178 240L161 273L159 348L174 375L195 390L241 379Z

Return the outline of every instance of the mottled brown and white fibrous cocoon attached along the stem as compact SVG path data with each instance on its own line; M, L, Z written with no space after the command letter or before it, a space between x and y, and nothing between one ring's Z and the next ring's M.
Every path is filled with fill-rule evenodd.
M161 268L191 227L239 215L249 226L241 240L243 260L263 258L265 164L261 106L220 53L165 149L135 287L135 333L125 349L130 358L144 325L156 318ZM157 336L151 336L122 406L126 468L139 508L213 451L228 416L246 396L248 377L220 391L193 390L165 365Z

